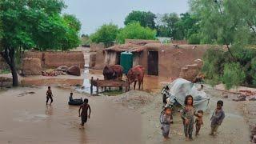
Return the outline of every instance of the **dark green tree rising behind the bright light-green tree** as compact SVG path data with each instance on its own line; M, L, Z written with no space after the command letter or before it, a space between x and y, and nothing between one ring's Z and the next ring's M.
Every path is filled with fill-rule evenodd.
M139 22L141 26L150 27L150 29L155 29L155 18L155 14L151 13L150 11L132 11L126 17L124 24L127 26L131 22Z

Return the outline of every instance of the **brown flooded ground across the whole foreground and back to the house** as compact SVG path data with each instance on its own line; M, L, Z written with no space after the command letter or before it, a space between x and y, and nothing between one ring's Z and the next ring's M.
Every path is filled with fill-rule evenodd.
M85 53L85 59L88 65L88 53ZM0 90L0 143L249 143L249 128L242 115L242 105L231 100L232 94L222 99L222 92L206 86L206 93L211 95L210 110L204 115L205 125L201 135L192 142L186 141L180 115L175 114L170 141L162 142L159 122L162 96L159 92L169 78L146 75L143 91L153 94L132 90L122 94L122 97L94 97L88 94L91 77L102 79L102 70L85 69L80 77L20 78L23 86L33 87ZM46 106L45 103L46 86L54 86L52 106ZM76 86L75 90L73 86ZM92 114L84 129L79 126L78 106L67 105L71 91L74 92L74 98L89 98ZM219 99L224 101L226 118L219 128L218 136L213 138L208 135L210 114Z

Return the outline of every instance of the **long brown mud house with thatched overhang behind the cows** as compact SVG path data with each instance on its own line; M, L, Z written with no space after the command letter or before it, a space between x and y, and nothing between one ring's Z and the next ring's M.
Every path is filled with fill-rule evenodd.
M94 55L94 66L102 69L105 65L120 64L120 54L130 51L134 54L133 65L142 65L146 74L162 77L179 77L182 67L202 59L210 46L207 45L174 45L161 43L147 43L138 45L126 43L111 46ZM91 68L94 68L91 66Z

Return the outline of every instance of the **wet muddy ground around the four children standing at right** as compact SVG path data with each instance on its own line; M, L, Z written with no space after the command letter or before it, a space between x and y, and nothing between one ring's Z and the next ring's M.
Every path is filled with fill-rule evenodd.
M217 90L207 88L206 93L211 94L210 114L215 108L215 104L221 98L222 93ZM170 141L162 142L162 131L160 130L159 114L162 110L162 96L157 94L154 102L142 108L142 139L146 143L249 143L249 128L245 118L242 115L242 107L230 99L224 101L224 110L226 118L219 128L216 138L210 137L210 114L204 115L204 126L201 135L194 138L194 141L188 142L183 136L182 120L180 114L174 115L174 124L171 126Z

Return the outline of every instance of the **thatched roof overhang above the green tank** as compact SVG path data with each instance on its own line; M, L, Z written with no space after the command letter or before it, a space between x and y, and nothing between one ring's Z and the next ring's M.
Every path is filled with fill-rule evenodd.
M116 51L116 52L123 52L123 51L130 51L130 52L140 52L144 50L144 46L135 45L132 43L127 43L123 45L111 46L106 48L106 51Z

